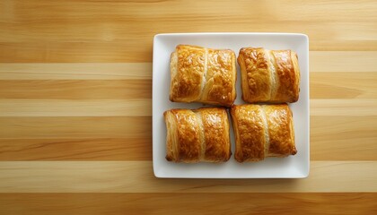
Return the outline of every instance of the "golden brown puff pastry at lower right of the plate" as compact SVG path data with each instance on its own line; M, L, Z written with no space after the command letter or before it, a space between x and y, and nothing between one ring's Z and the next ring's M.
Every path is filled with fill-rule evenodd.
M233 106L231 115L237 161L259 161L297 153L294 119L288 105Z

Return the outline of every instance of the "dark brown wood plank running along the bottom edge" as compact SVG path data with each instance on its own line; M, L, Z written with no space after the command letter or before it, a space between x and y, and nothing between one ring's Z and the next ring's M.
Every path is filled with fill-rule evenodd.
M377 193L1 193L0 213L346 215L373 214L376 200Z

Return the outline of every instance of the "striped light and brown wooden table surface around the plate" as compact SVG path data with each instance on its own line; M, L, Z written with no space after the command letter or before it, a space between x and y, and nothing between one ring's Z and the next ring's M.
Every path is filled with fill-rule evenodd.
M153 35L310 38L305 179L157 179ZM375 1L0 2L0 214L377 212Z

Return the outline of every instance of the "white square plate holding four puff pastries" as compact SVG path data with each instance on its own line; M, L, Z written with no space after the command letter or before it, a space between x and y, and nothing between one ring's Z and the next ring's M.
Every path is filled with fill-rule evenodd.
M171 108L197 108L201 104L171 102L170 56L179 44L211 48L230 48L238 56L241 47L292 49L299 58L301 70L299 100L289 106L294 113L294 133L297 154L287 158L267 158L254 163L238 163L233 156L221 164L184 164L168 162L166 127L163 112ZM241 100L241 74L237 65L237 99ZM300 178L309 175L309 39L304 34L291 33L179 33L158 34L153 40L153 171L157 177L189 178ZM232 152L234 135L231 127Z

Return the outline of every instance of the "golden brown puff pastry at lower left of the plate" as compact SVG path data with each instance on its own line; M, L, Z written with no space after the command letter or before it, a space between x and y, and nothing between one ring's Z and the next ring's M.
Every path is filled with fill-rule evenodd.
M229 121L224 108L171 109L163 116L168 132L167 160L224 162L231 157Z

